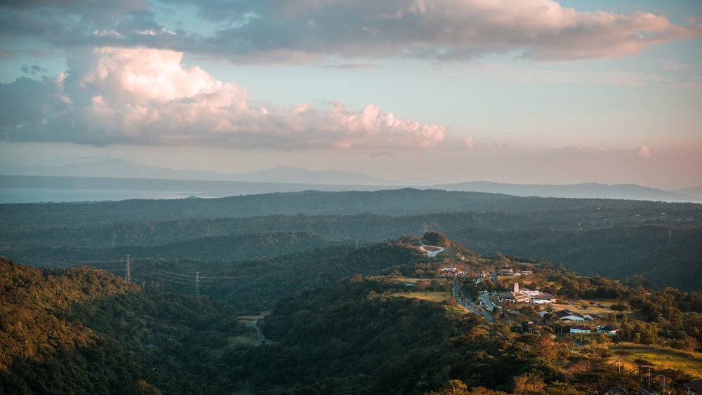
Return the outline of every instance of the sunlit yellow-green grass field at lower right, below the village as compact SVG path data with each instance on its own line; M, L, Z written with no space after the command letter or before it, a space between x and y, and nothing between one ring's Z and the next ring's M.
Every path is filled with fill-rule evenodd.
M650 347L632 343L611 345L609 349L624 352L621 359L628 369L633 368L635 359L644 359L653 363L655 368L682 370L695 377L695 380L702 379L702 353L690 354L668 347Z

